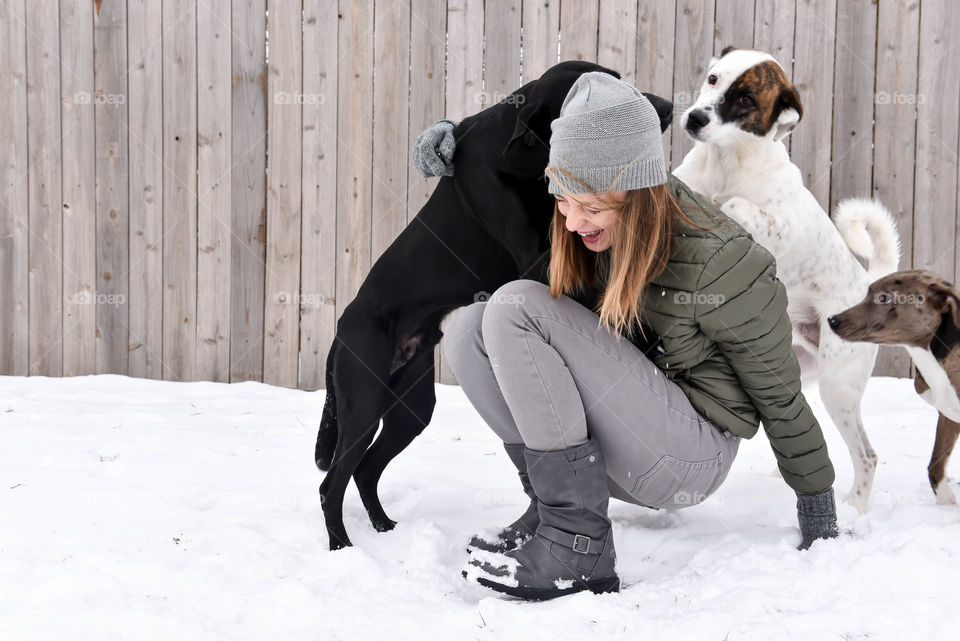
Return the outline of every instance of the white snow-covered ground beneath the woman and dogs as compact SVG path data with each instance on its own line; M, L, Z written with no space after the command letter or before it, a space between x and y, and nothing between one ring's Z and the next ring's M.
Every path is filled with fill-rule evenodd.
M815 393L837 468L852 472ZM388 469L376 533L329 552L313 465L322 393L119 376L0 377L0 639L960 638L960 509L926 481L936 413L874 378L872 510L797 552L795 499L766 438L705 503L611 503L625 588L531 604L460 576L464 544L523 508L496 439L457 387ZM957 454L949 470L960 466Z

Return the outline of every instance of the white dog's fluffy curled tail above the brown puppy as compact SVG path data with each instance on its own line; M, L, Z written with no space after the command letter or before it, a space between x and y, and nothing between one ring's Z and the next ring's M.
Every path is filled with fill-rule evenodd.
M900 234L886 207L869 198L848 198L837 205L833 222L850 251L866 261L871 281L897 271Z

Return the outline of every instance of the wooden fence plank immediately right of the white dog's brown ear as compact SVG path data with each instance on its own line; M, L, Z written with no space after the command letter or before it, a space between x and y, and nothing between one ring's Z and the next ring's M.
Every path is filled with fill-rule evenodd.
M828 211L836 10L836 0L797 0L793 82L800 92L803 120L790 135L803 184Z

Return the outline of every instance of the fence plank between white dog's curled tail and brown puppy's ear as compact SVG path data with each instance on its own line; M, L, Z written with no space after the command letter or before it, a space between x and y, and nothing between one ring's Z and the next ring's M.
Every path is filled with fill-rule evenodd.
M873 196L900 232L900 268L913 264L913 163L917 148L917 54L920 4L883 0L877 16ZM881 347L874 376L912 376L906 351Z

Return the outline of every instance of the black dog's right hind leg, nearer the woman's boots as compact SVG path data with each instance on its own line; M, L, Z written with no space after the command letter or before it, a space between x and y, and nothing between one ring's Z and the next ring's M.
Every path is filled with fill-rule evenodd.
M397 372L396 380L390 386L393 393L386 394L383 430L367 450L354 474L360 499L378 532L392 530L397 524L386 515L380 504L377 493L380 475L433 417L433 409L437 404L433 356L433 348L423 350Z

